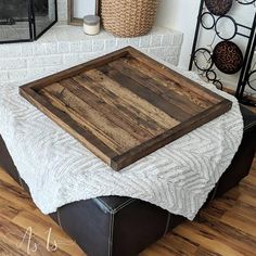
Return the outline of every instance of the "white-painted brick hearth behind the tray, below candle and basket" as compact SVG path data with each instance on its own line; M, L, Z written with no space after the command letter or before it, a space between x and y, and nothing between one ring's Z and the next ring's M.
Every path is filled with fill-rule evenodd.
M177 65L181 43L181 33L161 27L138 38L116 38L105 31L86 36L81 27L56 25L38 41L0 44L0 84L34 80L126 46Z

